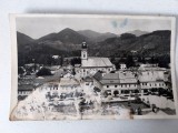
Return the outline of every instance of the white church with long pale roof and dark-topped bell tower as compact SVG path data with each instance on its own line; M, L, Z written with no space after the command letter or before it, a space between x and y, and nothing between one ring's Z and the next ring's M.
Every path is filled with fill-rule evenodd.
M88 45L82 42L81 45L81 76L93 75L98 71L109 73L115 70L115 64L108 58L88 57Z

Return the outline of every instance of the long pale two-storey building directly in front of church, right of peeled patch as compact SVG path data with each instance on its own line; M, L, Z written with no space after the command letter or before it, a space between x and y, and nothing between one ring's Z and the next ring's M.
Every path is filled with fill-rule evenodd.
M95 85L108 95L128 95L138 92L139 82L132 72L96 73ZM139 92L138 92L139 93Z

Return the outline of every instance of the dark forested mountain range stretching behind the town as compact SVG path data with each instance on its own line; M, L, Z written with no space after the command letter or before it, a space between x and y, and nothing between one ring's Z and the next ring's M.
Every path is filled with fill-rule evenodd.
M80 57L83 41L88 44L89 54L98 57L121 57L130 51L137 51L138 54L146 57L170 53L169 30L154 32L135 30L118 35L110 32L75 31L67 28L36 40L17 32L19 60L42 58L49 54Z

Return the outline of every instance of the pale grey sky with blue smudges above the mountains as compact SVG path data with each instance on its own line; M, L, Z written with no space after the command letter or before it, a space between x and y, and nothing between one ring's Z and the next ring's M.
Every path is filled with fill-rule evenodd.
M155 30L170 30L170 19L138 19L126 17L105 18L92 17L18 17L16 19L17 31L33 39L41 38L52 32L60 32L66 28L72 30L93 30L105 33L121 34L125 32L141 30L151 32Z

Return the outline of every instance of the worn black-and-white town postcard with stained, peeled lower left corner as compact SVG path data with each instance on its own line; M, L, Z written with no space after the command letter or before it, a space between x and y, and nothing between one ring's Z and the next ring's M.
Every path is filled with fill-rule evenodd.
M10 120L176 117L175 21L12 14Z

